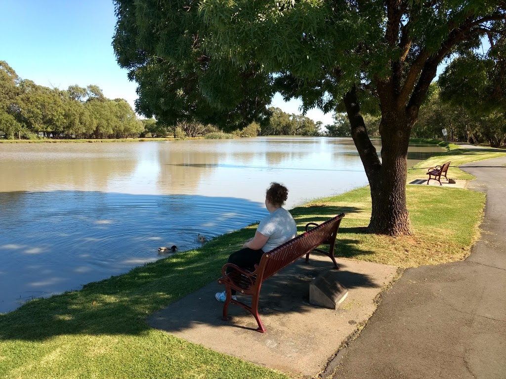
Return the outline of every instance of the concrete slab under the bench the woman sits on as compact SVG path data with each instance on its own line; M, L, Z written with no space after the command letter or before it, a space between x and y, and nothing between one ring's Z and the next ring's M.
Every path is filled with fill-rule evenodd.
M373 313L373 299L394 278L397 267L338 259L339 281L349 290L336 310L309 304L309 283L331 267L325 256L300 259L262 285L260 317L267 332L255 329L255 318L231 305L229 321L214 294L217 282L154 313L150 326L241 359L289 373L312 377L325 369L341 343ZM243 299L241 299L243 300Z

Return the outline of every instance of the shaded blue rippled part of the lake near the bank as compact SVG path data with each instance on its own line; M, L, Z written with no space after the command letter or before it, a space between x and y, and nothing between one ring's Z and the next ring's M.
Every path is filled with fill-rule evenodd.
M199 246L267 214L263 204L203 196L101 192L0 194L0 311Z

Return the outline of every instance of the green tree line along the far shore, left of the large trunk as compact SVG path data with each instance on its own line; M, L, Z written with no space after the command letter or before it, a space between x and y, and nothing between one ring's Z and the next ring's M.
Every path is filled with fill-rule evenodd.
M321 135L322 122L270 107L263 122L250 122L227 135ZM227 130L229 131L229 130ZM71 85L66 90L20 78L0 61L0 138L128 138L198 137L223 129L197 121L167 125L140 120L124 99L107 99L97 85Z

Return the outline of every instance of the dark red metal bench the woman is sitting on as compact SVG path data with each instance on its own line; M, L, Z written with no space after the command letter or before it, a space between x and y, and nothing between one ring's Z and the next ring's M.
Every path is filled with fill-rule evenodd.
M340 214L320 225L310 222L306 225L306 231L303 234L298 235L292 240L267 253L264 253L262 259L260 260L260 264L255 265L255 267L243 269L231 263L225 264L222 268L223 276L218 279L219 284L225 285L225 290L227 292L227 299L223 305L222 318L224 320L228 320L228 306L230 303L237 304L238 306L248 310L255 317L258 323L257 330L261 333L265 333L264 325L262 324L258 313L258 302L262 282L304 255L306 256L306 262L308 262L309 254L312 251L318 251L325 254L332 260L334 268L339 269L339 266L334 258L334 247L335 238L339 230L339 224L344 216L344 213ZM308 227L313 225L316 226L308 230ZM323 244L329 245L328 252L317 249L318 246ZM234 270L227 274L227 267L232 267ZM251 296L251 306L232 299L232 290L236 290L241 295Z

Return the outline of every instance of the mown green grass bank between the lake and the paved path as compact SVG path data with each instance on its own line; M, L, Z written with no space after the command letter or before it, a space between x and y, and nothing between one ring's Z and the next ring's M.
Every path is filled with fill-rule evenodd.
M503 156L451 150L421 163L452 161L451 177L466 176L455 164ZM423 174L418 175L418 171ZM462 259L478 236L485 196L461 188L408 185L414 236L365 233L370 217L368 187L292 210L300 230L344 212L338 255L413 267ZM230 252L255 226L226 234L198 250L90 283L81 291L35 299L0 315L2 378L286 378L287 376L148 327L147 315L217 278ZM438 241L434 243L434 241ZM213 296L213 294L209 294Z

